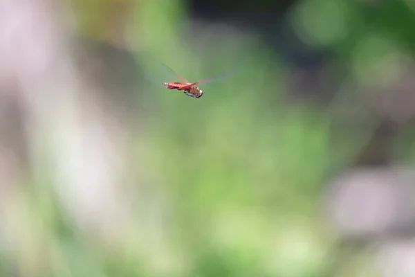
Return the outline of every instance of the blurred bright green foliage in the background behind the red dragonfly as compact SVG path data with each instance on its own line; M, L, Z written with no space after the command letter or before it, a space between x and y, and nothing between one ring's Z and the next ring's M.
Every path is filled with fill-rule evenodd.
M154 227L159 235L140 230L137 204L136 233L121 246L106 246L63 220L45 185L40 195L33 190L16 199L26 206L15 218L33 222L31 240L46 245L33 248L44 253L22 246L15 262L0 253L1 276L12 276L8 265L15 263L27 270L21 276L306 277L329 271L338 249L321 216L322 190L364 147L376 123L339 129L340 119L324 105L289 101L278 53L248 32L192 24L185 1L74 1L73 11L77 30L90 39L113 43L111 32L127 33L142 71L156 62L190 80L242 71L204 84L199 100L137 75L137 97L149 101L151 116L137 131L131 168L165 197L161 213L169 220ZM298 1L287 20L304 44L334 53L347 69L345 79L370 87L399 73L396 53L411 54L414 11L409 1L311 0ZM120 18L127 25L114 23ZM353 93L348 90L340 93ZM414 157L414 132L402 138L411 150L402 152ZM373 274L359 262L339 270Z

